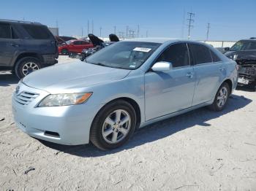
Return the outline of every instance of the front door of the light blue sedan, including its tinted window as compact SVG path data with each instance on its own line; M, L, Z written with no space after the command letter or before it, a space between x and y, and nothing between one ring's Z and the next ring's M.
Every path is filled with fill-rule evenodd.
M146 120L192 106L195 78L187 44L167 47L157 58L158 61L171 62L173 69L167 72L148 71L145 74Z

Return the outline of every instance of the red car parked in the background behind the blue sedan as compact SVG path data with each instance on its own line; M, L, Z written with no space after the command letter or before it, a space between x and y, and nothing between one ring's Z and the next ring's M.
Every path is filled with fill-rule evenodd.
M81 53L83 49L94 47L94 44L83 40L69 40L59 45L59 54L68 55L69 52Z

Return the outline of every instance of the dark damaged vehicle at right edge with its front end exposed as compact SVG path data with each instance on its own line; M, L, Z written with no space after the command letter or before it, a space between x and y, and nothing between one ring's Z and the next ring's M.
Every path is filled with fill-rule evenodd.
M236 42L225 47L225 55L238 63L238 85L256 88L256 38Z

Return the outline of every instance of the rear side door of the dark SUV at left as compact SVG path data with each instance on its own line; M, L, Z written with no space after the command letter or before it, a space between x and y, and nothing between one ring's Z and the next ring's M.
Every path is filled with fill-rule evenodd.
M16 52L22 49L22 40L9 23L0 23L0 66L10 67Z

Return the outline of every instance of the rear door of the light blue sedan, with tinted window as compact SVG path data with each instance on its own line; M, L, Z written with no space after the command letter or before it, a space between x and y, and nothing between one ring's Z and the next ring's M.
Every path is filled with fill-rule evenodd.
M203 44L189 44L194 63L195 94L193 106L214 98L225 74L225 68L218 56Z

